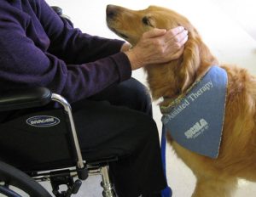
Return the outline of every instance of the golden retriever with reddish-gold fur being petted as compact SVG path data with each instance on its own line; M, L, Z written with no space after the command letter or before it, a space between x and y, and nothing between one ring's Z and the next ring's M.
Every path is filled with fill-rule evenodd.
M108 5L107 24L133 46L152 28L169 30L182 25L189 31L179 59L144 68L152 98L163 98L160 106L186 93L212 65L218 65L189 20L168 8L149 6L131 10ZM228 78L218 157L210 158L186 149L167 132L168 144L195 174L193 197L230 197L239 178L256 182L256 78L236 65L218 67L225 70Z

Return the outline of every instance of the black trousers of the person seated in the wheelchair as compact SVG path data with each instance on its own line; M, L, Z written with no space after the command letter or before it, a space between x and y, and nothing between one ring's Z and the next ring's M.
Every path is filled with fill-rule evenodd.
M119 197L157 196L166 187L146 87L131 78L72 108L84 159L118 156L110 176Z

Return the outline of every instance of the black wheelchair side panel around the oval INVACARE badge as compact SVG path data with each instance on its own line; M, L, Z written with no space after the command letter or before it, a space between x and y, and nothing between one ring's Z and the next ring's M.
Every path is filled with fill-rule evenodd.
M58 118L55 127L33 127L31 117L49 115ZM23 171L49 170L75 166L72 136L63 110L47 110L20 116L0 126L0 160ZM47 167L46 167L47 166Z

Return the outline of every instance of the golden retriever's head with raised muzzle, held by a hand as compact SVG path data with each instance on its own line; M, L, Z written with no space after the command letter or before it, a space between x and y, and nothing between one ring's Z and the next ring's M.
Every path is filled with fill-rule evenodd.
M173 97L185 91L196 76L207 66L216 63L207 46L191 25L181 14L157 6L143 10L131 10L108 5L108 28L119 37L135 46L143 33L152 28L170 30L182 25L189 31L189 40L185 44L183 55L164 65L147 66L148 84L154 99Z

